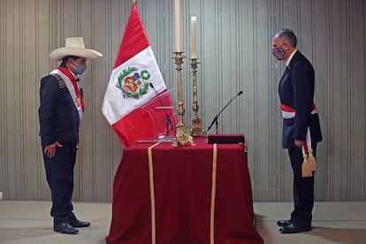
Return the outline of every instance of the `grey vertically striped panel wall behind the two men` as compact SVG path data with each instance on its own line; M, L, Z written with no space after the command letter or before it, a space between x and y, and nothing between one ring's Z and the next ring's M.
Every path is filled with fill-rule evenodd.
M57 66L49 53L83 36L104 57L82 75L86 114L75 169L75 201L111 202L122 145L103 118L103 95L132 0L0 1L0 191L8 200L49 200L38 136L39 86ZM173 1L141 0L138 9L168 88L176 88ZM366 4L362 0L181 0L182 46L190 57L197 16L199 117L219 117L218 133L245 133L256 202L292 201L292 172L281 149L278 80L271 35L293 28L316 69L316 201L366 200ZM183 65L185 122L192 119L189 60ZM215 133L212 128L210 133Z

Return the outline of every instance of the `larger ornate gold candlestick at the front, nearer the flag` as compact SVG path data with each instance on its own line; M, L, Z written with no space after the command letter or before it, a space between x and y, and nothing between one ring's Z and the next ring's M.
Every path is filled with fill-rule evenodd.
M177 65L177 82L178 82L178 126L177 131L175 133L174 141L172 142L173 147L178 147L179 144L185 146L187 142L190 142L191 146L194 146L193 137L188 132L188 127L184 124L184 103L183 103L183 88L182 88L182 64L183 64L183 52L177 51L174 52L175 64Z

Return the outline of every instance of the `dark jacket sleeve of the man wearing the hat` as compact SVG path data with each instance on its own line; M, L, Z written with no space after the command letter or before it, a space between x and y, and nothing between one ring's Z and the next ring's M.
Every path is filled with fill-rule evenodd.
M40 136L45 145L50 145L57 141L55 136L55 121L57 116L57 100L60 88L55 77L49 75L41 80L40 100L41 105L38 110L40 119Z

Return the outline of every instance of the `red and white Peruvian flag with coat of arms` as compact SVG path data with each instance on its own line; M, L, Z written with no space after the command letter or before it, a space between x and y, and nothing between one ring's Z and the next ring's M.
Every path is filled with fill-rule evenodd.
M126 147L174 133L176 117L172 109L166 109L172 107L166 90L134 3L102 106L104 117ZM157 94L160 98L153 99ZM167 126L167 119L174 125Z

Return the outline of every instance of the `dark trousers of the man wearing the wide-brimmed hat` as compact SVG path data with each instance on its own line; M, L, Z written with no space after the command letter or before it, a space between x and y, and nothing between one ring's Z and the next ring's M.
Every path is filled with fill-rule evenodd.
M60 142L61 143L61 142ZM73 167L76 160L76 143L61 143L64 147L56 149L52 158L44 154L43 159L49 182L52 209L50 215L54 217L54 224L67 222L72 215Z

